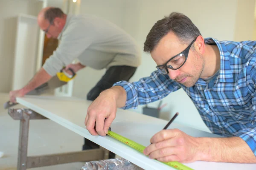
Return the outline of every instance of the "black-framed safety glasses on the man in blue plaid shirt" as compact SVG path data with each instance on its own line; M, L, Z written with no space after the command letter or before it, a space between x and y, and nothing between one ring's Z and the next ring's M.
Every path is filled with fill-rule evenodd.
M195 38L195 40L196 40L196 38ZM161 74L166 75L169 73L168 68L170 68L172 70L179 69L182 65L185 64L186 59L188 58L188 55L189 55L190 47L195 42L195 40L193 40L184 51L182 51L180 54L177 54L176 56L169 59L165 64L157 65L156 66L157 70Z

